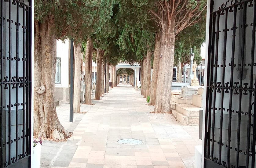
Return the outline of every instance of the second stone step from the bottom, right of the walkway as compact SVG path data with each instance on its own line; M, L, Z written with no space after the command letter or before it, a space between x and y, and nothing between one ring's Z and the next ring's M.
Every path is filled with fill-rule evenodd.
M199 110L203 108L199 108L191 104L176 104L175 109L185 116L199 117Z

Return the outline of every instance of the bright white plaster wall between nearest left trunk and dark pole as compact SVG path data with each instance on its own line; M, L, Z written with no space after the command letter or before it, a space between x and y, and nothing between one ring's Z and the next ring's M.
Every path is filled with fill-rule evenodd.
M57 40L57 58L61 59L60 84L55 84L56 88L69 87L69 40Z

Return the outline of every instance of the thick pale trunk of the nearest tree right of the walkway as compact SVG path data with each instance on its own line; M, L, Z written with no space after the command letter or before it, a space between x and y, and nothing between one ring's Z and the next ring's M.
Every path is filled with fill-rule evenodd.
M171 87L174 64L174 19L171 20L171 26L168 27L167 21L163 24L166 27L162 30L161 38L161 55L159 60L159 73L157 80L155 109L156 113L170 113L171 112ZM170 33L166 33L170 32Z

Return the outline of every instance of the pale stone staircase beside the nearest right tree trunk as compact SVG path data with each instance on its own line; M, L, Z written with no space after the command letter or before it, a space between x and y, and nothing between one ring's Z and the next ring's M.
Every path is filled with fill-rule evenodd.
M203 109L202 89L199 88L192 98L172 97L172 113L182 125L199 125L199 110Z

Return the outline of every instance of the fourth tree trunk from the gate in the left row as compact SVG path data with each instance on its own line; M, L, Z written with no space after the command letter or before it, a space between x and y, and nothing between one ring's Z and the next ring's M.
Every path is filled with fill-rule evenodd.
M101 83L101 64L102 64L102 49L97 48L97 79L95 88L95 100L100 100L102 96L102 83Z

